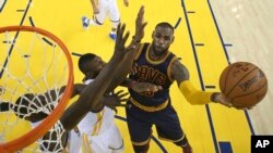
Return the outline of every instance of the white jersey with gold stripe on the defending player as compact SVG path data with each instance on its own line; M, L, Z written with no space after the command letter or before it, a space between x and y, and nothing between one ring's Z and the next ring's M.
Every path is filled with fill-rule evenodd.
M87 79L84 84L91 81L93 79ZM122 136L114 119L114 111L107 106L103 106L99 112L88 112L85 115L78 125L82 135L82 153L123 152Z

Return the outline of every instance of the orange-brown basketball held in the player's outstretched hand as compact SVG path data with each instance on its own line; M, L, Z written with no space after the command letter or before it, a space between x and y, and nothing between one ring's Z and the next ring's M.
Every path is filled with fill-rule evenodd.
M266 94L268 79L254 64L236 62L221 74L219 89L235 107L251 107Z

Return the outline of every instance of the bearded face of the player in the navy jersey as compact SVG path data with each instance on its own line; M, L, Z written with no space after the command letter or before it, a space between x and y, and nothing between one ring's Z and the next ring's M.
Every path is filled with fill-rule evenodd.
M156 27L153 33L153 52L156 55L162 55L168 51L169 46L174 41L174 31L168 27Z

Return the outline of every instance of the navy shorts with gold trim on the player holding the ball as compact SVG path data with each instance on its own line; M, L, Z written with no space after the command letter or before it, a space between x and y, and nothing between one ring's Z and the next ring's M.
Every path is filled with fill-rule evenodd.
M142 111L130 101L128 104L132 105L126 110L126 113L131 141L134 145L149 143L153 125L156 127L159 139L178 142L185 137L177 113L170 104L157 112Z

